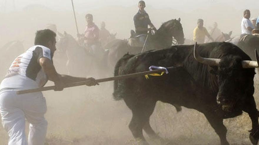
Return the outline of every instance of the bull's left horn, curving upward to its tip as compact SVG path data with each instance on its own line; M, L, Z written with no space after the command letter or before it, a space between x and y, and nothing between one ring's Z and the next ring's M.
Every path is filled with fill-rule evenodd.
M219 66L220 59L216 59L216 58L203 58L203 57L201 57L199 55L199 53L196 51L196 45L197 45L197 42L195 42L194 50L193 50L193 54L194 54L195 60L197 60L198 62L200 62L202 64L208 64L210 66Z

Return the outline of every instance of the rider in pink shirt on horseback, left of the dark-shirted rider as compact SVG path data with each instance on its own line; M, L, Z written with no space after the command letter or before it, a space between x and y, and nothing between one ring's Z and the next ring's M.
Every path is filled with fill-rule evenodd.
M79 39L84 40L84 46L89 50L90 53L98 58L102 58L103 49L99 42L99 28L93 22L93 15L88 13L85 15L87 26L84 30L84 34L78 34Z

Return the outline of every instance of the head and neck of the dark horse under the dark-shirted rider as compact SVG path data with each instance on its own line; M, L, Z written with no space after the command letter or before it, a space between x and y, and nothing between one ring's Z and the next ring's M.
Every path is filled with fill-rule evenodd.
M184 34L180 21L180 18L178 18L178 20L172 19L167 21L161 25L161 27L158 29L158 32L160 31L161 33L168 33L168 35L174 37L177 40L178 44L183 44Z

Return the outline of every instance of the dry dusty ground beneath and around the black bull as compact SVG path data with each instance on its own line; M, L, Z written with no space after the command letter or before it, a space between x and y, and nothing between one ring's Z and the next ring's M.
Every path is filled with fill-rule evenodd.
M128 129L131 112L123 101L112 99L112 83L68 88L62 92L48 91L44 92L44 96L48 106L48 144L137 144ZM250 120L247 114L227 119L224 124L228 128L227 138L231 144L250 144ZM204 115L196 110L183 108L182 112L176 113L171 105L158 102L151 125L168 145L220 144ZM7 134L1 126L0 145L7 144L7 140ZM148 141L152 145L160 144L159 141Z

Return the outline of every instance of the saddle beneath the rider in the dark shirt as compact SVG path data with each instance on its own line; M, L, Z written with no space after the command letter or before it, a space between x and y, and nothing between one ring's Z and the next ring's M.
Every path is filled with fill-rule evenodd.
M146 36L145 34L137 35L134 30L130 31L130 37L128 41L128 47L143 47L144 42L140 42L140 37Z

